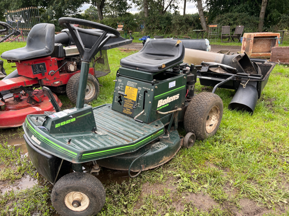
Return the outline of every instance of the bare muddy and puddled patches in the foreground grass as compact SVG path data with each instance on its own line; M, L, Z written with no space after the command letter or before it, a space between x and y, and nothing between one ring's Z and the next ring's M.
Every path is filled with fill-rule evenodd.
M7 145L15 146L15 149L21 149L23 157L29 158L24 138L19 137L18 133L15 134L15 131L14 135L11 134L13 134L13 132L11 133L10 129L5 129L0 132L1 137L10 137L10 139L7 141ZM211 166L210 164L207 165ZM1 165L0 169L4 167L5 166ZM84 167L83 170L84 172L88 171ZM117 184L121 184L123 181L129 181L127 171L111 170L107 168L102 168L102 170L99 172L99 175L96 177L102 183L110 181L112 183L114 182ZM169 198L173 200L171 204L174 206L174 209L177 212L186 211L187 208L185 203L190 203L196 209L201 209L206 212L212 211L213 208L217 206L219 209L221 209L221 211L226 213L225 215L262 216L268 214L274 215L276 213L277 215L281 215L286 213L286 209L282 206L278 206L276 209L268 209L267 207L262 208L258 206L258 203L247 198L239 200L240 208L238 209L236 206L231 206L231 203L229 202L216 202L214 198L210 197L207 193L204 193L204 191L200 191L199 193L183 192L181 194L182 198L176 198L175 194L177 193L177 185L180 180L181 179L178 177L169 177L163 183L144 183L142 185L142 192L139 196L138 202L136 202L136 204L134 205L134 210L140 209L142 206L144 206L146 204L145 202L148 196L169 196ZM0 192L3 195L6 191L14 190L15 192L17 192L19 190L32 188L34 185L44 186L45 184L48 185L51 189L53 188L53 185L51 183L47 183L44 179L43 181L38 182L36 179L30 177L29 175L24 175L21 179L16 180L13 184L9 184L7 183L7 181L0 181ZM231 197L233 197L234 193L236 193L236 190L232 188L229 183L226 184L223 190ZM108 197L111 198L112 196L109 195ZM48 205L52 206L51 201L49 201ZM59 216L59 214L55 212L51 212L51 215Z

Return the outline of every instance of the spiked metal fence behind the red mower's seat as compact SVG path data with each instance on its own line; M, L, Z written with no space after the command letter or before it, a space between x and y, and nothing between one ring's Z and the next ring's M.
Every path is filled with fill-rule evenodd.
M18 10L5 10L6 22L15 27L18 23L18 36L10 37L7 41L26 42L27 35L32 27L40 23L39 10L37 7L25 7ZM12 31L9 29L9 34Z

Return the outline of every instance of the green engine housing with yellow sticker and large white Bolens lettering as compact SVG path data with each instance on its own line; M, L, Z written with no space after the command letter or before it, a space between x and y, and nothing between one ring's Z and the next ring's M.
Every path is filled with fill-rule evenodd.
M137 78L132 78L138 74ZM162 118L168 112L184 106L187 75L172 69L160 73L140 72L121 67L116 77L112 109L145 123ZM125 96L126 95L126 96Z

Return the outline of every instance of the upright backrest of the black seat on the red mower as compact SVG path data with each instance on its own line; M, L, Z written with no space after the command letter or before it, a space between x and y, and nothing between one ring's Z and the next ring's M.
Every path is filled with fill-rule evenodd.
M36 24L27 36L26 47L29 50L47 49L47 53L51 54L54 50L54 34L55 27L53 24Z

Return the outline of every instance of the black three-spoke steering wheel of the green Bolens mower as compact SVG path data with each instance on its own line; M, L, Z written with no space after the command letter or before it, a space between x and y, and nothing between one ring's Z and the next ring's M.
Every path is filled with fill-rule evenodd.
M97 22L68 17L59 18L58 22L69 30L71 37L74 40L77 50L81 56L81 60L85 62L90 62L92 57L95 56L99 52L99 50L101 50L101 48L110 38L117 38L120 36L120 33L116 29ZM81 29L73 26L72 24L88 26L97 30L102 30L103 32L97 30L93 31L88 29ZM99 39L95 42L91 49L84 48L79 32L88 35L98 36Z

